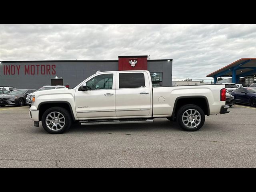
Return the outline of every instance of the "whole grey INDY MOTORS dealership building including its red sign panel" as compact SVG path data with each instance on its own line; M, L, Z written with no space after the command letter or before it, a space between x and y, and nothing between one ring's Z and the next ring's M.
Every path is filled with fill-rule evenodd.
M0 62L0 86L38 89L44 85L75 87L97 71L148 70L153 86L172 86L172 59L118 56L118 60L42 60Z

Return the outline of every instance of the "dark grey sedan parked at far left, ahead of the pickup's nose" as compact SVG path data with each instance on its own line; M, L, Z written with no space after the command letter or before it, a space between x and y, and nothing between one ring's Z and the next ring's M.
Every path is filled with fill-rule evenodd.
M0 107L6 105L24 106L28 94L35 92L36 89L17 89L0 97Z

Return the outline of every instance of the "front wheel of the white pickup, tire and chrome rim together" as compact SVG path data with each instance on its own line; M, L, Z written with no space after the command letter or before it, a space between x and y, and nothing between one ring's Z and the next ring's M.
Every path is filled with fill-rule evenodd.
M52 107L42 115L42 126L50 134L61 134L68 130L72 119L68 110L62 107Z

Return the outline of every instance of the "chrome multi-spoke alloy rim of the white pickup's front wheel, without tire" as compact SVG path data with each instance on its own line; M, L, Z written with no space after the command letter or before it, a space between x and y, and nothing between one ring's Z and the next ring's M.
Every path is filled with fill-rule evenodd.
M50 112L45 119L46 126L53 131L61 130L65 125L65 117L62 113Z

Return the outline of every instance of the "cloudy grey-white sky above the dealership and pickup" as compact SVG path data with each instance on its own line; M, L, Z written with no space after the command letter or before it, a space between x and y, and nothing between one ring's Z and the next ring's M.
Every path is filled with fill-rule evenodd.
M173 80L256 58L256 24L0 24L0 61L173 59Z

